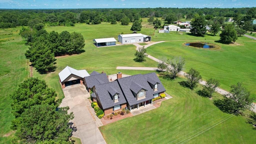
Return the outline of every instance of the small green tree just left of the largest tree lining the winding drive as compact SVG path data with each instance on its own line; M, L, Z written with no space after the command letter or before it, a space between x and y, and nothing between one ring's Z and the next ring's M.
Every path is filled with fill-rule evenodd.
M206 84L203 85L202 91L209 97L212 97L212 94L216 91L217 87L220 85L219 80L217 79L208 79Z

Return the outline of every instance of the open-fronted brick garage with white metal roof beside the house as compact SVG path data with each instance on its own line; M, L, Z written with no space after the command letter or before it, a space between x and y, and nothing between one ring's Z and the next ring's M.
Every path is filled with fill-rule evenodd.
M90 76L89 73L84 70L76 70L72 67L65 67L59 73L60 83L62 88L66 88L70 85L80 84L83 85L83 78Z

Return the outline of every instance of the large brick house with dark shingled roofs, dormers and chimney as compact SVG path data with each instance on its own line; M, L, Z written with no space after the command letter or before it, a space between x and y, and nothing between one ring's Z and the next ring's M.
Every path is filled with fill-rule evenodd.
M124 108L132 110L152 104L152 99L166 90L155 73L139 74L122 78L117 74L116 80L109 82L107 76L93 72L84 78L87 89L92 90L91 96L97 101L105 115Z

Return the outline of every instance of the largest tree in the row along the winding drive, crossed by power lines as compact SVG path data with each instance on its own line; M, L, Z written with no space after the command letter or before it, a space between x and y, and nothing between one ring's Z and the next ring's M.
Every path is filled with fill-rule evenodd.
M250 97L250 92L242 86L242 83L237 83L237 85L232 85L230 93L223 95L221 104L223 105L223 110L225 112L241 112L245 109L249 109L252 106L253 98Z

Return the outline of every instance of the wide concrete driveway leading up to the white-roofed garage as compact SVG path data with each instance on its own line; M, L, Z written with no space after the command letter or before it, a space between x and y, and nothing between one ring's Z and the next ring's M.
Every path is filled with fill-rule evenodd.
M71 121L77 127L77 131L73 132L73 136L80 138L83 144L105 144L106 142L98 129L99 124L89 110L91 104L87 98L90 97L90 94L85 86L65 88L63 92L65 98L60 107L69 106L69 112L72 111L74 114L74 119Z

